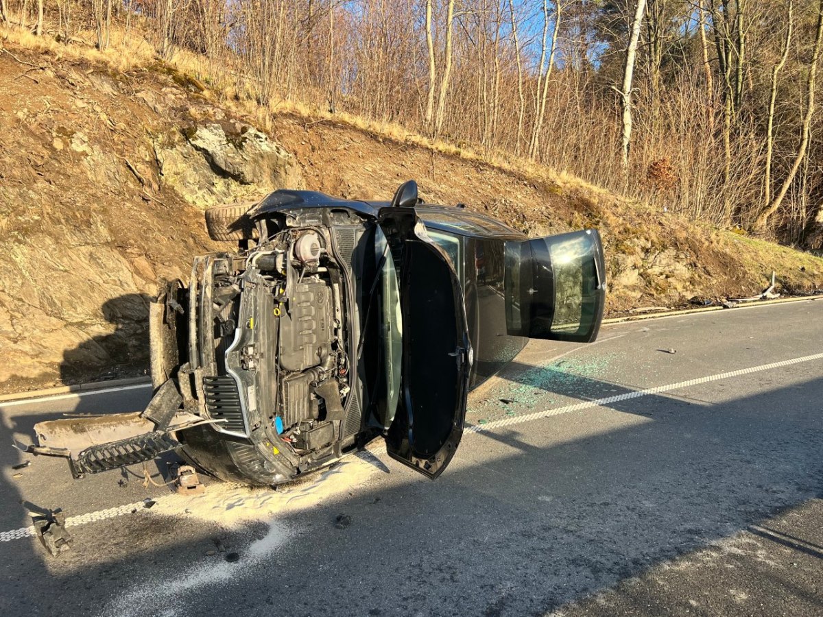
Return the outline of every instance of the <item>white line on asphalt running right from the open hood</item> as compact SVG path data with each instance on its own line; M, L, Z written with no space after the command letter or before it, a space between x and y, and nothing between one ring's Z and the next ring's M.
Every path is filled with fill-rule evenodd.
M792 366L793 364L800 364L801 362L809 362L811 360L823 360L823 354L804 355L802 356L802 358L793 358L792 360L781 360L780 362L772 362L771 364L760 364L760 366L752 366L749 369L729 371L728 373L718 373L716 375L709 375L708 377L689 379L685 382L669 383L667 386L649 387L646 390L633 390L631 392L617 394L614 397L597 398L594 401L584 401L581 403L574 403L573 405L566 405L563 407L555 407L554 409L547 409L545 411L536 411L533 414L516 415L511 418L504 418L503 420L494 420L492 422L487 422L486 424L468 424L466 426L465 432L483 433L491 429L499 429L502 426L523 424L523 422L532 422L533 420L549 418L552 415L568 414L571 411L583 411L584 409L591 409L592 407L611 405L611 403L616 403L619 401L628 401L631 398L648 397L652 394L658 394L660 392L671 392L672 390L679 390L681 387L696 386L700 383L716 382L720 379L740 377L741 375L749 375L751 373L760 373L760 371L779 369L784 366Z

